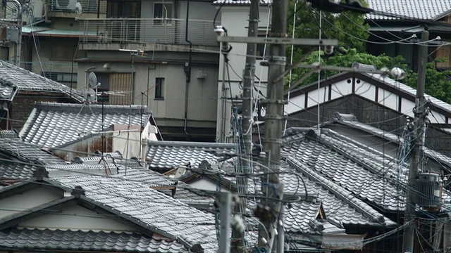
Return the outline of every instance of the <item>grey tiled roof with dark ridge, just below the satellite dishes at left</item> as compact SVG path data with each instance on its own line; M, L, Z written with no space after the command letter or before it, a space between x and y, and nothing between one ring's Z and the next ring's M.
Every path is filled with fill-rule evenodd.
M55 148L102 131L112 124L147 124L150 113L141 105L37 103L20 136L30 143ZM131 112L131 114L130 114ZM144 113L142 113L144 112Z

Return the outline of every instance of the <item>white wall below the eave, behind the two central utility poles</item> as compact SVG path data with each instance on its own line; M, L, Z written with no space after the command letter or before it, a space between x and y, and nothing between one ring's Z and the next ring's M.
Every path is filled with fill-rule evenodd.
M260 21L259 27L268 26L268 6L260 6ZM223 6L221 8L221 25L226 27L228 30L228 36L239 36L239 37L247 37L247 27L249 26L249 6ZM226 86L223 86L223 63L224 59L221 56L219 61L219 70L218 70L218 98L226 97L230 98L230 91L232 93L232 97L238 96L242 94L242 89L240 89L239 83L242 82L242 70L245 68L246 62L246 49L247 44L231 44L233 47L232 51L228 56L229 64L229 73L230 73L230 87L228 84L228 74L226 72ZM266 50L268 50L268 46L266 46ZM255 79L255 83L257 89L261 89L261 93L266 96L266 81L268 79L268 68L262 67L260 65L261 60L257 60L255 74L257 77L261 79L261 83ZM227 69L226 69L227 71ZM235 74L236 72L236 74ZM254 94L257 96L257 93ZM216 123L216 138L219 140L220 136L226 136L230 132L230 115L231 115L231 103L230 100L224 102L223 100L218 99L218 113L217 113L217 123ZM223 117L225 111L225 118ZM223 125L225 124L225 127ZM223 130L224 129L224 130ZM225 140L227 141L227 140Z

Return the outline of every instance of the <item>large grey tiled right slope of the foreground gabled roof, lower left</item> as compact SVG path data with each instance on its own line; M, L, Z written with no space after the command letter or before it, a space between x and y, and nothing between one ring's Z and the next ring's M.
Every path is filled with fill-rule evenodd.
M55 180L70 188L82 186L87 198L121 216L137 219L149 231L187 245L199 243L205 252L216 252L214 216L153 190L149 183L87 175Z

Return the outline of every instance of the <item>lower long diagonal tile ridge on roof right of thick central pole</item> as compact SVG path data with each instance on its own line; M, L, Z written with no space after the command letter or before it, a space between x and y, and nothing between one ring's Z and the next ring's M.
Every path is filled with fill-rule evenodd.
M383 214L369 207L369 205L360 200L358 197L352 195L352 192L350 192L349 190L346 190L345 188L342 188L342 186L338 186L336 183L333 183L333 181L324 178L320 174L316 173L316 171L313 171L309 167L304 166L304 164L301 164L297 160L288 157L287 162L297 167L297 169L300 169L304 174L307 174L311 181L321 183L322 187L331 191L334 195L345 201L348 205L359 210L359 212L362 212L362 214L364 214L366 218L369 218L371 221L378 223L383 223L385 221L385 216L383 216ZM347 193L347 195L342 192Z

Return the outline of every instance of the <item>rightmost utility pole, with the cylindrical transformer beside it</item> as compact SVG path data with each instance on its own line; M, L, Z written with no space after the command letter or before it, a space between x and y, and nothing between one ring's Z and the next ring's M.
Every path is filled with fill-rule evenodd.
M424 31L421 34L421 42L428 41L429 32ZM418 80L416 84L416 99L414 108L414 148L413 156L409 168L409 181L407 188L406 209L404 214L404 223L409 223L404 228L404 238L402 242L403 252L414 252L414 235L415 235L415 178L416 174L422 169L421 158L424 154L424 136L426 131L425 126L425 99L424 99L424 85L426 80L426 63L428 62L428 45L427 43L419 44L418 52Z

